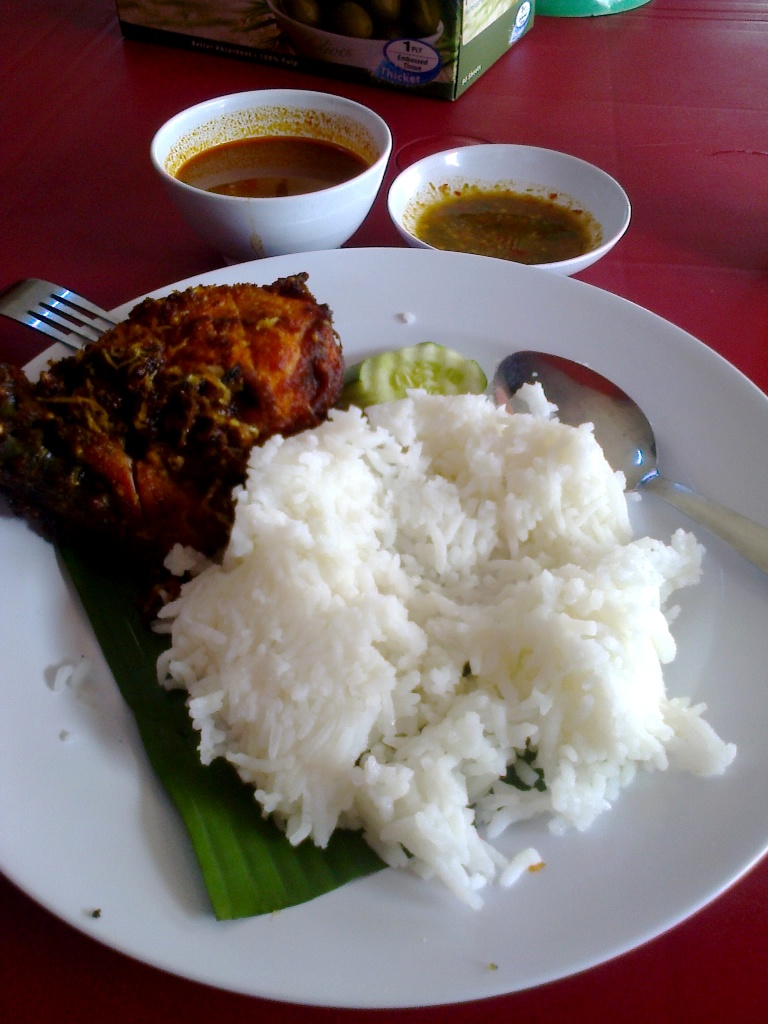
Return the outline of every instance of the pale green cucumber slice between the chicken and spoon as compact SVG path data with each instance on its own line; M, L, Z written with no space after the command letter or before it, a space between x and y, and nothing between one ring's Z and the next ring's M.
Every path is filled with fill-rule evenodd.
M411 388L429 394L481 394L487 378L474 359L434 341L372 355L348 368L342 406L377 406L404 398Z

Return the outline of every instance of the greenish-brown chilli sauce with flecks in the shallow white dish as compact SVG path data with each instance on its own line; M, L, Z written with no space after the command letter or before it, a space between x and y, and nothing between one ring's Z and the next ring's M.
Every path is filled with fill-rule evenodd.
M600 241L599 227L585 210L503 188L441 185L412 228L435 249L478 253L517 263L572 259Z

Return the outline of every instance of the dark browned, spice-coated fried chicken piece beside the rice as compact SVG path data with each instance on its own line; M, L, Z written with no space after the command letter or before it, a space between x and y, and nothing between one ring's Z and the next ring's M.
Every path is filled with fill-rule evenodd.
M55 537L213 554L252 446L317 425L342 382L306 274L145 299L34 384L0 366L0 493Z

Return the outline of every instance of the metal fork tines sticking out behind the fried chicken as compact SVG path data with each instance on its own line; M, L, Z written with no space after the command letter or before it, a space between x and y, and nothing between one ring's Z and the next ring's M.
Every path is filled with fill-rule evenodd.
M70 348L85 348L115 326L105 309L69 288L37 278L17 281L0 294L0 313Z

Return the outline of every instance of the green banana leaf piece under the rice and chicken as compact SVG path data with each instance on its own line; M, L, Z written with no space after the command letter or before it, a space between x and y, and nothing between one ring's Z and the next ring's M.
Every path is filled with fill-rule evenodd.
M295 906L384 866L358 833L337 829L325 849L291 846L228 764L204 766L183 694L158 683L156 663L168 641L139 610L140 579L128 565L115 570L63 545L58 552L152 767L186 826L219 921Z

